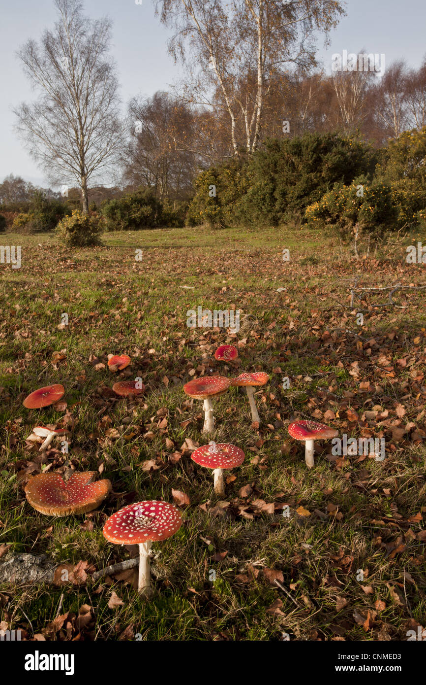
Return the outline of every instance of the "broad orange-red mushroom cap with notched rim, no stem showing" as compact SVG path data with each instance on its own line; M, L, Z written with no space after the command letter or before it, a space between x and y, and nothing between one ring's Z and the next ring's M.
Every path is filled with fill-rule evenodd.
M25 486L31 507L41 514L69 516L96 509L111 490L108 479L91 482L96 471L72 473L64 482L59 473L39 473Z

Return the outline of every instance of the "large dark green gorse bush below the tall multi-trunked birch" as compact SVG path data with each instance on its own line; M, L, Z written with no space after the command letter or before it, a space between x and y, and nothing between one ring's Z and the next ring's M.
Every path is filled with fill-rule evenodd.
M266 140L250 160L202 171L194 182L187 223L278 226L290 216L304 216L306 207L335 183L372 177L375 164L377 155L369 145L338 134Z

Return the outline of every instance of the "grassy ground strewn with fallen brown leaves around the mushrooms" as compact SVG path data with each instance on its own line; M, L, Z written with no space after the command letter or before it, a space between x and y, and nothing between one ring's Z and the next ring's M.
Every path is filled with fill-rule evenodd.
M399 293L395 301L405 309L374 308L383 297L364 299L362 326L345 308L354 275L365 286L425 282L424 267L405 262L410 242L384 242L356 261L336 238L324 247L319 232L290 228L107 234L104 247L74 250L46 234L7 240L22 245L22 266L0 266L0 545L101 569L131 553L103 538L112 512L141 499L173 501L172 489L190 505L181 530L153 546L149 603L131 577L3 584L1 620L29 638L64 639L64 628L55 634L49 627L63 595L64 614L92 607L82 639L281 640L286 632L296 640L405 640L413 621L425 625L424 295ZM197 306L240 310L238 334L189 329L187 311ZM231 388L214 403L215 440L246 454L230 472L228 506L220 510L211 473L184 445L206 438L202 404L182 387L212 370L235 373L213 354L237 341L239 373L267 371L270 381L256 393L258 430L242 390ZM96 368L121 352L132 358L129 377L146 384L142 399L114 397L107 388L118 378ZM32 390L59 382L66 410L23 408ZM371 410L377 419L364 415ZM25 440L36 423L64 416L74 426L72 467L98 471L113 493L93 514L53 519L25 500L25 480L46 468L38 446ZM334 458L331 444L321 443L308 471L303 448L287 434L295 417L356 438L384 437L386 459ZM395 433L401 427L403 436ZM61 472L58 448L47 466ZM150 460L156 468L148 471ZM247 484L252 493L243 497ZM274 503L274 512L256 500ZM286 504L289 517L282 516ZM309 514L297 513L300 507ZM282 574L294 601L269 582L267 569ZM112 590L123 602L117 608L108 606Z

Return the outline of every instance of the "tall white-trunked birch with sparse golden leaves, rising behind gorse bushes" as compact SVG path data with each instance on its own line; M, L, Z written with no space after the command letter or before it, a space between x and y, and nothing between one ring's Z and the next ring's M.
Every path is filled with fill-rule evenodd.
M274 76L314 66L317 32L343 14L338 0L157 0L157 11L175 31L169 49L187 66L187 97L226 112L235 155L258 147Z

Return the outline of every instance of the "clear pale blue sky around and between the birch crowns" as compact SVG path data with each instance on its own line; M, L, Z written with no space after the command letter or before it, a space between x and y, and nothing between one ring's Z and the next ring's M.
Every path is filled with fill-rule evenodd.
M118 63L122 100L142 93L168 90L182 75L167 53L168 31L155 16L151 0L85 0L85 13L108 14L113 23L112 54ZM52 0L0 0L0 181L14 173L43 184L42 173L14 137L12 107L31 100L31 90L15 57L27 38L39 38L55 21ZM319 57L330 69L332 53L343 49L384 53L386 64L404 57L419 66L426 54L425 0L348 0L347 16L332 32L329 48L320 44Z

